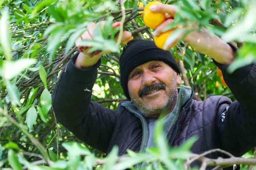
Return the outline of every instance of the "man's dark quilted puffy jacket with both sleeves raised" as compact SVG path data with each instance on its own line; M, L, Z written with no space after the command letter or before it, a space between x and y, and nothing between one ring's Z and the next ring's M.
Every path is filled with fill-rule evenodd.
M58 121L86 144L107 154L114 145L119 147L119 155L128 148L139 151L143 136L140 119L120 104L118 110L110 110L91 102L100 61L91 68L80 69L74 66L76 57L61 74L53 93ZM192 93L168 132L168 141L171 146L177 146L197 135L193 153L221 148L241 156L256 146L256 65L244 66L232 74L226 72L227 65L216 65L237 101L224 96L196 101ZM218 156L223 155L208 155L209 158Z

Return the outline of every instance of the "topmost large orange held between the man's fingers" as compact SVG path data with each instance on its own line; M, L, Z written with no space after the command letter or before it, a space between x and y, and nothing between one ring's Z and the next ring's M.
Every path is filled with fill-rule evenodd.
M151 12L149 6L160 3L158 1L153 1L148 3L143 10L143 21L149 28L155 29L162 22L165 21L165 15L162 12Z

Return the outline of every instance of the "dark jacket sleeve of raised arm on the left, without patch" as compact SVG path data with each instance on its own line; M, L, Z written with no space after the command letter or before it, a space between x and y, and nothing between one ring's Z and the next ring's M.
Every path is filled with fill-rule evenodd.
M53 92L53 110L58 121L86 144L106 151L116 121L115 111L91 102L97 68L101 61L88 69L74 65L72 57L62 71Z

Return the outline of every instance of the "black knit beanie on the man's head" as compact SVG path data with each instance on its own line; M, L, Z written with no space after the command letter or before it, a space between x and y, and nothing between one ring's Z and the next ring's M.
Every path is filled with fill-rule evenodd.
M121 86L127 99L130 100L128 93L128 76L137 66L159 60L170 65L177 73L181 73L179 66L169 51L157 48L155 43L148 40L134 39L126 44L120 57Z

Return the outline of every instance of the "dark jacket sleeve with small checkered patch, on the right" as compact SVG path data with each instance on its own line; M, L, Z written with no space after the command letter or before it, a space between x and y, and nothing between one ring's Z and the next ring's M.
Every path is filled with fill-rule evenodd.
M237 99L231 104L226 97L220 99L216 121L220 143L222 149L241 156L256 146L256 63L232 74L226 71L228 65L216 65Z

